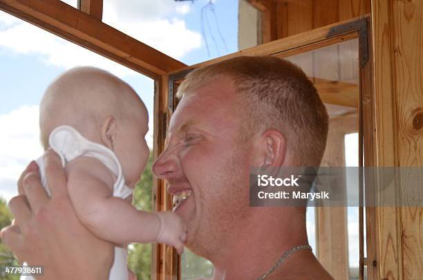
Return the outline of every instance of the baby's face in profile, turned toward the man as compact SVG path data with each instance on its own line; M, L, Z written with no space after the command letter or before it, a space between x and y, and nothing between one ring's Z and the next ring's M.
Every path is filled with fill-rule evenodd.
M149 131L147 110L133 114L129 121L118 124L114 151L122 165L128 187L135 187L149 159L149 147L145 136Z

